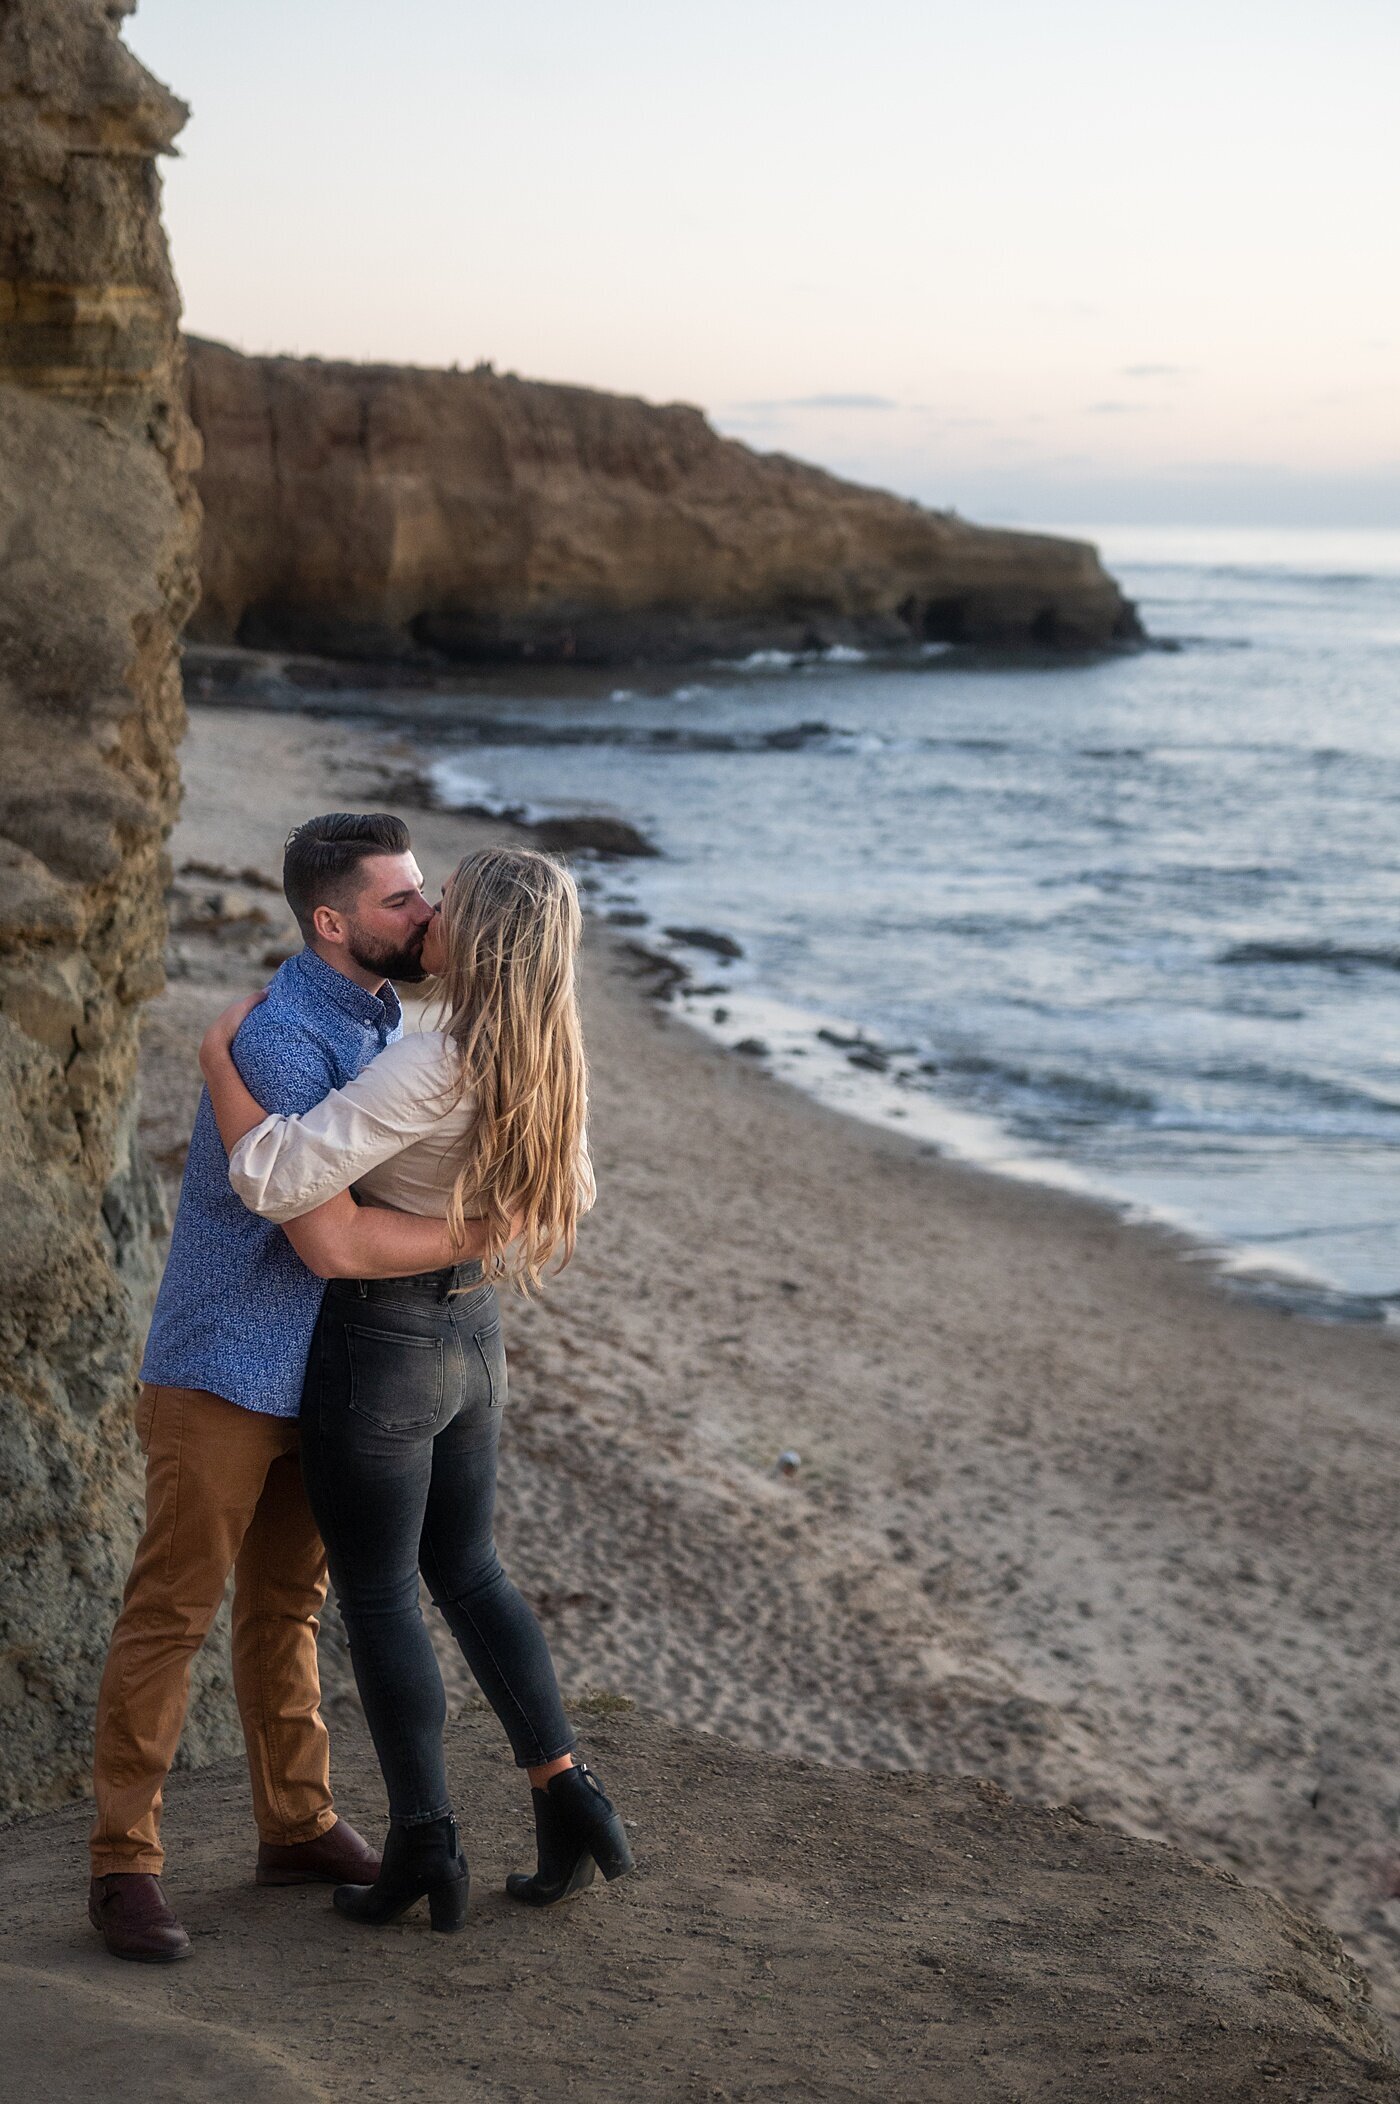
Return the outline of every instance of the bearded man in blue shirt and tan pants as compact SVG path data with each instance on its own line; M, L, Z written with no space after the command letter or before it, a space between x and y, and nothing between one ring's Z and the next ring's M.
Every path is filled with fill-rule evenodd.
M286 842L305 949L238 1033L269 1111L309 1111L402 1035L389 978L423 978L434 909L402 818L333 812ZM442 1220L347 1195L286 1229L229 1189L208 1096L189 1142L141 1365L145 1534L97 1700L88 1915L120 1959L166 1963L189 1938L160 1889L160 1801L189 1666L234 1574L234 1692L257 1818L257 1883L371 1883L375 1852L331 1801L316 1671L326 1559L301 1488L297 1408L326 1277L406 1277L469 1250Z

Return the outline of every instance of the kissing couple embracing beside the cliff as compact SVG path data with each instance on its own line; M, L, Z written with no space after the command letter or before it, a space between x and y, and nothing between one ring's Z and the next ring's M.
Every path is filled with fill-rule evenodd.
M573 877L488 848L432 907L400 818L333 812L291 835L282 888L305 947L200 1046L141 1363L145 1532L97 1702L88 1915L143 1963L189 1955L160 1803L229 1572L259 1885L333 1883L362 1923L427 1898L434 1929L463 1925L419 1574L531 1782L539 1860L505 1889L552 1906L594 1866L632 1868L493 1540L495 1288L539 1290L594 1201ZM396 978L436 980L440 1029L404 1035ZM331 1799L326 1574L389 1799L383 1858Z

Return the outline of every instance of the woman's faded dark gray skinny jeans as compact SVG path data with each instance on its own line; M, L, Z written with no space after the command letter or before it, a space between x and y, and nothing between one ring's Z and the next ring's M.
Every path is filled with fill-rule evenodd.
M305 1488L389 1816L406 1822L451 1809L446 1698L419 1572L516 1763L543 1767L575 1744L549 1645L495 1551L505 1347L480 1277L480 1265L459 1265L333 1279L301 1393Z

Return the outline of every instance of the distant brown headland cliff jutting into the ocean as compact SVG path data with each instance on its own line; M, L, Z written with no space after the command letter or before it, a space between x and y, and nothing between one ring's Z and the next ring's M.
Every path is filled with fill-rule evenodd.
M1139 633L1093 547L720 438L697 408L189 343L211 644L684 659Z

